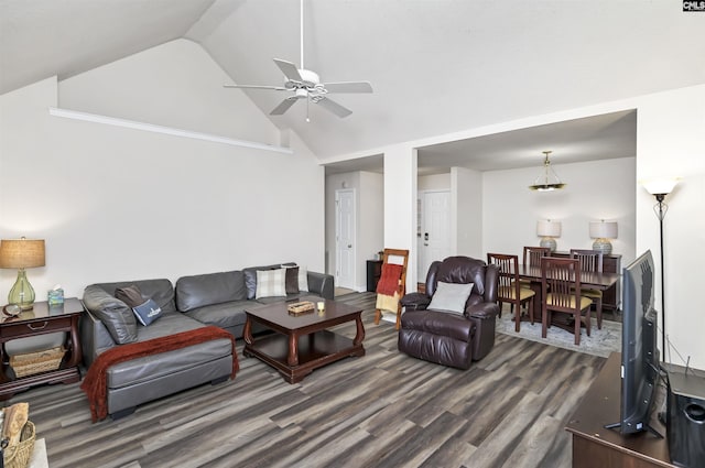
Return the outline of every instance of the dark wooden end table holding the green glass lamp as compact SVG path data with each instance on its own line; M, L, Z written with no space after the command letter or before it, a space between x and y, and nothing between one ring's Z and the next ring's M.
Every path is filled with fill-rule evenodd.
M51 307L46 302L35 302L33 309L24 311L17 317L8 317L0 313L0 401L41 383L73 383L80 380L78 363L82 359L82 350L78 339L78 318L83 309L79 300L69 297L64 300L63 305ZM8 376L9 359L4 349L6 342L56 331L68 333L66 355L58 369L21 378Z

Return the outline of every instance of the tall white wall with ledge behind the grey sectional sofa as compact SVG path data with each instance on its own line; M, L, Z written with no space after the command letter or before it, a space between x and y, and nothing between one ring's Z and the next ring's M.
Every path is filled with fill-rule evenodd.
M82 296L94 282L280 261L323 271L323 168L295 135L290 155L47 113L58 101L276 144L276 129L223 83L199 46L175 41L0 97L0 237L46 240L46 266L28 271L39 300L56 283ZM191 113L200 99L208 111ZM15 275L0 271L0 297Z

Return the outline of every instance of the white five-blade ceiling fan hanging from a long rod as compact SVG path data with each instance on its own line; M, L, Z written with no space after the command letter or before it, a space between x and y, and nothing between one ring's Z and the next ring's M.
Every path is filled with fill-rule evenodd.
M321 83L318 74L304 68L304 1L301 0L301 68L295 64L281 58L274 58L274 64L284 74L284 86L258 86L258 85L224 85L226 88L243 89L270 89L276 91L289 91L291 96L284 98L271 112L270 116L281 116L289 110L296 101L306 99L306 121L308 122L308 104L319 105L324 109L344 118L352 111L338 102L332 100L327 95L334 92L372 92L372 85L369 81L336 81Z

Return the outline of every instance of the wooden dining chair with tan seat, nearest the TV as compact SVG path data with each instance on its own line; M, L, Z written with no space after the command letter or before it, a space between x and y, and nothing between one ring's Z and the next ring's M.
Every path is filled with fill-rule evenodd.
M577 259L544 257L541 259L541 287L543 303L541 311L541 336L553 319L554 312L573 315L575 345L581 344L581 325L585 325L590 336L590 306L593 300L581 295L581 265Z

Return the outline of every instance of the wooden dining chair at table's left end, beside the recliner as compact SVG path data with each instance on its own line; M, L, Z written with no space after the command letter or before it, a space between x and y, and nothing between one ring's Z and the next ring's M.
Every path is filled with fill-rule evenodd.
M497 301L499 302L499 316L502 316L503 303L511 304L514 312L514 330L519 333L521 322L521 305L527 303L529 319L533 325L533 296L536 293L519 284L519 255L508 255L505 253L488 253L487 264L495 264L499 268L499 285L497 289Z

